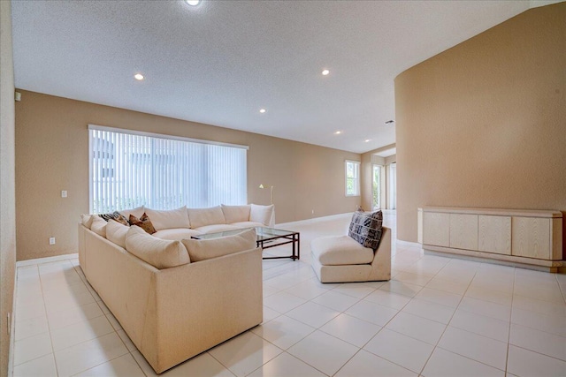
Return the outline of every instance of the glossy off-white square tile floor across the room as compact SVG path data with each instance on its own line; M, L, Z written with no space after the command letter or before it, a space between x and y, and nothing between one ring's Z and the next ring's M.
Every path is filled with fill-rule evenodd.
M566 376L566 275L394 242L390 282L321 284L310 240L348 222L287 226L301 231L302 260L264 261L264 323L164 375ZM395 230L395 215L385 224ZM76 257L21 266L17 279L14 376L155 375Z

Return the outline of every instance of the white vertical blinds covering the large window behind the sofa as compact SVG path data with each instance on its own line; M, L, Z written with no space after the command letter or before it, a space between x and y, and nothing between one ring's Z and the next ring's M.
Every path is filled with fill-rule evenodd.
M247 147L88 126L90 212L247 203Z

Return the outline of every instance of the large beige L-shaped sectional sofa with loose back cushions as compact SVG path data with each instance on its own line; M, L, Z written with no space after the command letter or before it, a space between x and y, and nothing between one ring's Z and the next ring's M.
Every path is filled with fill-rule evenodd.
M256 248L255 230L190 238L272 225L268 207L122 211L136 217L145 212L157 230L153 235L97 215L82 216L80 267L157 373L262 322L262 250Z

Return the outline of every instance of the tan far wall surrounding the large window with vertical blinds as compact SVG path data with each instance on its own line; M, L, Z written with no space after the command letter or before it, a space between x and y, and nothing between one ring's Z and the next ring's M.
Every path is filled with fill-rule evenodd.
M16 104L18 260L77 252L75 224L88 213L88 124L249 146L249 202L269 204L270 191L258 186L273 185L278 223L351 212L360 200L344 192L344 161L359 161L357 154L22 91Z

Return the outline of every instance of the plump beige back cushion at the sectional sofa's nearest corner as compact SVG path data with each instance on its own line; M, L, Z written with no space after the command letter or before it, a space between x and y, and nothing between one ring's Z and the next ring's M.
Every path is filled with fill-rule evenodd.
M127 231L126 250L159 269L190 262L187 249L180 241L153 237L138 226L132 226Z

